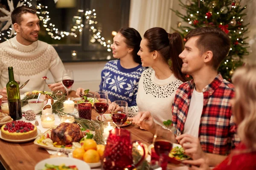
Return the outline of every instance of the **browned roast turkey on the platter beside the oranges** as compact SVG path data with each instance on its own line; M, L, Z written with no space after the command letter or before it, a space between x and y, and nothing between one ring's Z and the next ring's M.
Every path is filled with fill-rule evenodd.
M83 137L79 125L75 123L61 123L58 127L53 129L51 133L52 142L57 142L57 144L61 145L79 142Z

